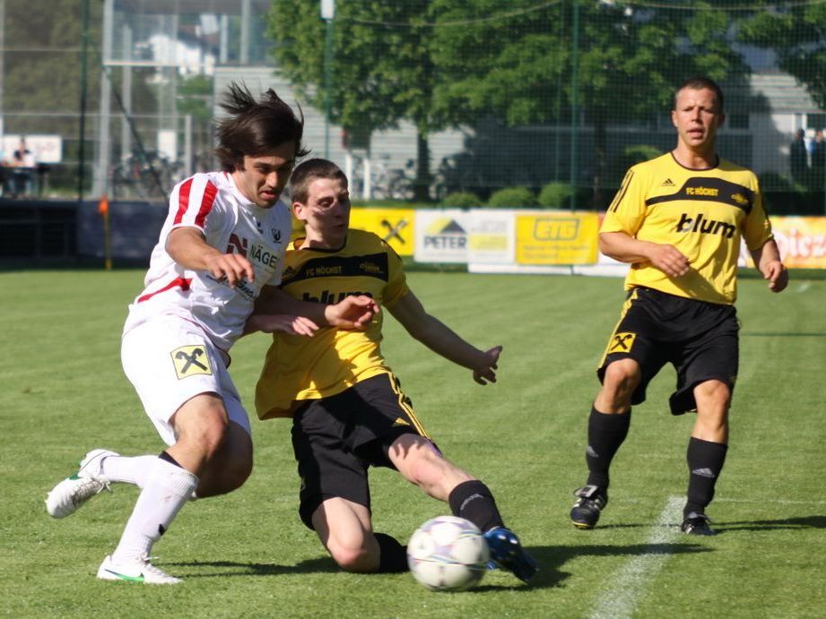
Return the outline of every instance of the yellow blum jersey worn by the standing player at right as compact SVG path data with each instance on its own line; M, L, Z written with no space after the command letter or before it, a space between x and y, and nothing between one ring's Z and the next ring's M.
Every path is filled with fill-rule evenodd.
M683 168L670 152L629 169L600 232L674 245L689 260L691 270L679 278L648 262L631 264L625 288L728 305L737 297L741 237L750 251L772 237L751 170L725 159L715 168Z

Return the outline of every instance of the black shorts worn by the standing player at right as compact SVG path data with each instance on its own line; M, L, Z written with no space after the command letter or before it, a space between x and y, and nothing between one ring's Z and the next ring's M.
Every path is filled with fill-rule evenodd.
M682 415L697 409L693 391L700 383L718 380L734 390L739 329L734 305L633 288L596 374L602 382L605 368L613 361L636 360L642 379L631 404L639 404L646 399L651 379L670 363L677 370L677 386L669 404L672 414Z

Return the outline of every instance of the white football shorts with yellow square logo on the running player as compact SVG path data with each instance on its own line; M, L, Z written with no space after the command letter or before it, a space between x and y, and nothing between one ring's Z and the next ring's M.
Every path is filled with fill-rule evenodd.
M120 359L164 443L176 443L170 419L178 408L207 392L221 396L230 421L251 435L224 354L194 322L159 316L138 324L124 334Z

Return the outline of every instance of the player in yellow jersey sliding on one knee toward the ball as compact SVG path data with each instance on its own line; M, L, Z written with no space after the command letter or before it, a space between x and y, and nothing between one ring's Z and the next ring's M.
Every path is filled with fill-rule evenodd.
M424 310L393 249L371 232L349 228L347 187L342 170L326 159L293 171L292 209L306 236L287 251L283 291L321 304L372 297L413 338L470 369L476 383L494 383L501 347L474 348ZM482 530L494 563L530 580L535 563L505 528L491 491L442 455L401 391L379 348L381 324L379 313L359 333L277 335L267 352L256 410L262 419L292 417L301 520L348 572L406 570L404 546L374 533L370 520L368 469L396 469Z

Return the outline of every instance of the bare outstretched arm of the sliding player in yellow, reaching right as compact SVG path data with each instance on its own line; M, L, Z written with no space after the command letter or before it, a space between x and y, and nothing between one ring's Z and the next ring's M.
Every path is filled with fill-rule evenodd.
M413 338L419 340L433 352L473 371L474 381L479 384L496 383L496 369L501 346L488 350L475 348L463 340L444 322L425 312L422 303L408 292L387 311Z

